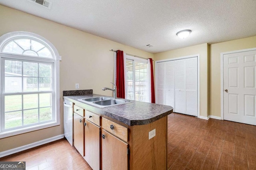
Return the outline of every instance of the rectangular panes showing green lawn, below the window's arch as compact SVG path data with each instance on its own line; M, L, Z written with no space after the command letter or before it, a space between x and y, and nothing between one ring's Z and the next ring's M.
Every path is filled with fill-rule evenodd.
M5 129L52 120L51 90L52 64L5 60Z

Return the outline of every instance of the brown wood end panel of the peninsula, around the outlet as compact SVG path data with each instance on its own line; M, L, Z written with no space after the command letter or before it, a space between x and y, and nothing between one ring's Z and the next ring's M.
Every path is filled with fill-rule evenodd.
M167 117L147 125L131 126L129 131L130 170L165 170L167 167ZM148 132L156 136L148 139Z

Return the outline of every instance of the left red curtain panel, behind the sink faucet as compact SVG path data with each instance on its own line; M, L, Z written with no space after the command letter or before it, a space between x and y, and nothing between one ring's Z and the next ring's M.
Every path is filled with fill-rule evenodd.
M125 98L124 86L124 51L116 52L116 93L118 98Z

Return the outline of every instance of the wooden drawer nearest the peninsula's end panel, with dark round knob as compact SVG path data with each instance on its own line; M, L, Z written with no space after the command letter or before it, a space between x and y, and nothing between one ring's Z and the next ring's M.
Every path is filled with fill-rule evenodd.
M128 142L128 128L102 117L102 128Z

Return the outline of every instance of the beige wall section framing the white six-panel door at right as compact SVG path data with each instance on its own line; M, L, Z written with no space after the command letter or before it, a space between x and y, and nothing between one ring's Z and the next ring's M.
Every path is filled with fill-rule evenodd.
M220 117L220 53L256 47L256 36L210 45L209 113Z

